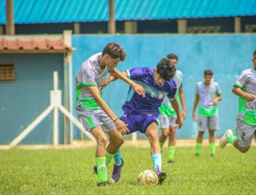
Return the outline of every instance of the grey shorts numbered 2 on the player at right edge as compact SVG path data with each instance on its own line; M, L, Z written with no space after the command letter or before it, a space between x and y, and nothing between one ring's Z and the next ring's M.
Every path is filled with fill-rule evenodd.
M237 118L238 145L245 148L250 146L253 136L256 140L256 126L246 124L242 119Z

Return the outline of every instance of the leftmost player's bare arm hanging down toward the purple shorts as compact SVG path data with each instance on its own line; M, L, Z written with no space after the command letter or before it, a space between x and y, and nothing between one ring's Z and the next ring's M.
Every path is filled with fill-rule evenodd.
M101 98L101 95L98 91L97 86L87 86L90 90L90 93L94 97L94 101L102 108L102 110L114 121L114 125L118 129L120 133L128 133L129 129L126 127L126 123L124 121L119 120L119 118L113 113L110 107L106 104L106 102Z

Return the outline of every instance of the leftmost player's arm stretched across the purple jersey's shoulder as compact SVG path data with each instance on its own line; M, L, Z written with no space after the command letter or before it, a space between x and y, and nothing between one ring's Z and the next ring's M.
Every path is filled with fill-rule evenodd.
M142 95L142 97L145 98L145 90L142 88L142 86L130 80L130 78L128 78L126 71L121 73L119 70L113 69L109 70L109 73L113 75L115 78L120 78L122 81L126 82L134 90L135 93ZM110 82L117 80L115 78L111 78Z

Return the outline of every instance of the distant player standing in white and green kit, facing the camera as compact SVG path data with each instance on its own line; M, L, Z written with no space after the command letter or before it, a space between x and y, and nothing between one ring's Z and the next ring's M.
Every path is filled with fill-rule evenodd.
M202 137L206 129L209 132L210 156L215 154L214 131L218 130L218 101L222 100L221 90L217 82L211 82L213 78L212 70L204 71L204 82L198 82L195 88L194 105L192 118L196 121L195 109L199 101L198 113L198 137L196 143L195 156L199 156L202 148Z

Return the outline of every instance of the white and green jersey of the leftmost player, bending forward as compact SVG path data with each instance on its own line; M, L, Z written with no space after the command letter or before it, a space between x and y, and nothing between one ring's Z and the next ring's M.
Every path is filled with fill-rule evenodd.
M76 108L82 107L84 109L101 109L94 101L88 86L97 86L102 96L102 80L106 77L109 68L105 66L102 70L98 63L98 57L102 53L94 54L82 63L78 74L75 77L76 87Z

